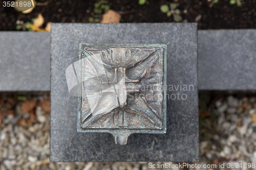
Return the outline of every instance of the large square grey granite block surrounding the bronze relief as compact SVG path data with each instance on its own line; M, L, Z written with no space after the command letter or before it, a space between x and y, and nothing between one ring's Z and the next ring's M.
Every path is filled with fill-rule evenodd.
M51 29L51 161L199 161L196 23L52 23ZM167 44L167 85L182 85L167 99L187 99L167 100L166 134L132 134L121 146L108 133L76 132L77 98L69 95L65 70L78 60L79 42Z

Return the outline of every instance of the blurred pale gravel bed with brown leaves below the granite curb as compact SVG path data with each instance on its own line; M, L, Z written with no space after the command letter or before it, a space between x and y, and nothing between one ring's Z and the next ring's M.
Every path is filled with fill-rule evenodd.
M26 99L19 101L18 99ZM150 162L50 162L49 94L0 97L0 169L179 169L149 168ZM26 112L26 113L25 113ZM256 163L256 98L218 99L200 111L200 162ZM155 165L178 162L151 162ZM212 168L183 168L212 169ZM218 168L221 169L221 168ZM232 168L231 168L232 169ZM255 169L240 167L233 169Z

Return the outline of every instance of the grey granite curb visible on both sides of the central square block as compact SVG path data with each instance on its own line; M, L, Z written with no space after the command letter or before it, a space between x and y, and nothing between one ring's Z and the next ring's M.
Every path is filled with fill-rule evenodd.
M199 30L199 90L256 90L255 39L256 30ZM0 91L50 90L50 33L2 31L0 51Z

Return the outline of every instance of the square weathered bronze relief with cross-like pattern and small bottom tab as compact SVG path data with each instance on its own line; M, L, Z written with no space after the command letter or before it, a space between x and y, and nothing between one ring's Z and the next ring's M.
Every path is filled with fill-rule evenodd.
M166 132L166 44L79 43L77 132Z

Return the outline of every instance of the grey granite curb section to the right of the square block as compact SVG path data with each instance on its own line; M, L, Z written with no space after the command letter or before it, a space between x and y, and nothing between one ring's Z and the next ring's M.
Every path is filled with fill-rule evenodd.
M256 89L256 29L199 30L199 90Z

